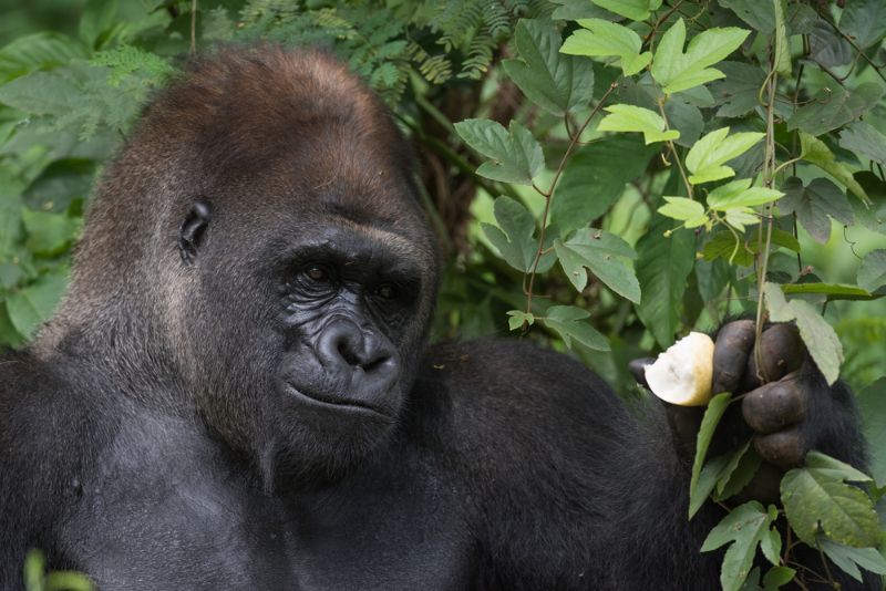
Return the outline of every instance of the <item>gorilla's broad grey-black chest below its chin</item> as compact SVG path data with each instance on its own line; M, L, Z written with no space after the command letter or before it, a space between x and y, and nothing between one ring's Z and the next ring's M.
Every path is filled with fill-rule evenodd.
M282 500L212 458L188 457L190 444L187 454L127 452L76 484L61 549L99 589L465 587L468 538L430 478L369 475Z

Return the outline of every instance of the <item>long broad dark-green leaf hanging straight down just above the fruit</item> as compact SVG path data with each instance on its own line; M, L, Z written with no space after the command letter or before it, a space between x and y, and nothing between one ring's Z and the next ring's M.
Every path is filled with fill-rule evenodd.
M669 218L652 216L649 231L637 242L635 266L642 290L637 315L662 348L673 344L686 281L696 260L692 232L678 231L666 238L671 226Z

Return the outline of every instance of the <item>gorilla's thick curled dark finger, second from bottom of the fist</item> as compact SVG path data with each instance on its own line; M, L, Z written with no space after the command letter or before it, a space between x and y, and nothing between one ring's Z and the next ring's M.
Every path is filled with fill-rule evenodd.
M774 433L803 419L806 396L796 376L792 376L745 394L741 411L745 423L756 433Z

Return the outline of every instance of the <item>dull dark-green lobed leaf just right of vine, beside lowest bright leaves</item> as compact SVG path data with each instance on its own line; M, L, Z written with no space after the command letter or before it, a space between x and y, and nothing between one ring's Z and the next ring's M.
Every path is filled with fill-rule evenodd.
M795 212L800 224L816 241L831 238L831 218L845 225L855 221L846 194L826 178L814 178L807 187L797 177L785 180L785 197L779 201L782 214Z

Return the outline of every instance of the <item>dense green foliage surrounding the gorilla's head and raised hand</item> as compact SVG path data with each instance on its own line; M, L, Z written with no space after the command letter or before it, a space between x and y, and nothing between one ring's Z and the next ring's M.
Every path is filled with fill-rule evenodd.
M90 187L175 55L324 45L419 148L449 261L435 338L509 328L636 395L627 361L689 330L795 321L830 382L874 384L874 477L813 454L781 506L734 506L760 459L745 444L705 462L720 395L690 515L709 496L731 512L701 550L729 545L725 589L828 580L824 563L794 570L796 543L886 573L880 0L96 1L55 31L37 17L0 49L0 342L51 315Z

